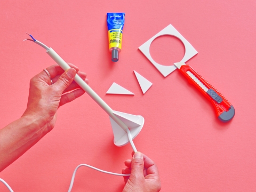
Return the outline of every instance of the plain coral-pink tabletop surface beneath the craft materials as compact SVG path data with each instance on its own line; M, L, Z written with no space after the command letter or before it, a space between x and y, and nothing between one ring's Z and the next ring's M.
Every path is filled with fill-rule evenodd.
M107 12L125 12L120 61L110 61ZM23 42L31 33L87 73L114 110L142 115L138 150L158 165L162 191L256 191L256 1L1 1L0 127L26 109L29 79L54 61ZM178 71L164 78L138 47L172 24L198 51L187 63L236 109L227 124ZM171 36L150 47L172 65L185 52ZM133 70L153 86L143 95ZM116 82L134 96L106 95ZM130 145L116 147L109 117L87 94L61 107L55 128L0 173L16 192L67 191L78 164L120 173ZM82 167L73 191L122 191L123 178ZM0 183L0 191L8 191Z

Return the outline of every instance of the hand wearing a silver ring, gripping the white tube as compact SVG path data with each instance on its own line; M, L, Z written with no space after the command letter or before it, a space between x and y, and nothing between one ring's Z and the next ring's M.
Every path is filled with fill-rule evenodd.
M73 82L76 73L87 84L89 82L84 72L80 72L71 63L68 65L71 68L66 71L59 65L46 68L51 75L53 84L44 70L30 79L28 105L22 116L37 119L38 126L44 127L42 130L44 134L53 129L57 119L57 109L85 93L76 82Z

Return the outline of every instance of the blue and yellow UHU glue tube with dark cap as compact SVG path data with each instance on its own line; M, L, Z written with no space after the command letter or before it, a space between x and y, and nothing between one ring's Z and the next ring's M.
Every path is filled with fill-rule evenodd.
M125 13L107 13L109 51L114 62L119 60L118 53L122 49L124 15Z

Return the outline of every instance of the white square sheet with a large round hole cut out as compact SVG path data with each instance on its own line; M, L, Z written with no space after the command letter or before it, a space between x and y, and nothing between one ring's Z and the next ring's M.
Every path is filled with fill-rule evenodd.
M142 44L139 47L139 50L145 55L146 58L157 68L157 70L164 76L166 77L167 75L171 74L172 71L177 69L174 65L171 66L164 66L156 61L151 57L150 55L150 45L151 43L155 40L155 38L162 36L162 35L172 35L180 39L180 41L184 44L185 46L185 55L182 58L181 61L177 62L186 62L189 59L193 58L198 52L195 50L195 48L179 33L177 29L175 29L171 24L167 27L165 27L163 30L161 30L158 34L155 36L151 37L146 43Z

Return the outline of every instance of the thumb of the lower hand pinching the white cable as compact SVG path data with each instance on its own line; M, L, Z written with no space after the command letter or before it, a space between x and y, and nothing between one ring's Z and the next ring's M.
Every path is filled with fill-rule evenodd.
M136 152L133 155L132 164L131 164L131 177L137 178L137 179L144 179L144 160L143 155L140 152Z

